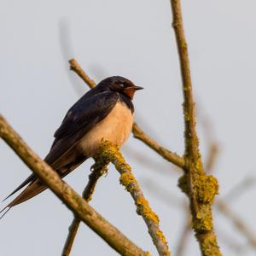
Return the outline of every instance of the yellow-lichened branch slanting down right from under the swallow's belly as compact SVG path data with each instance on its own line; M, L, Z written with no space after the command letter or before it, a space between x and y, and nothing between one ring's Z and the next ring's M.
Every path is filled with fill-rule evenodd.
M129 166L122 154L119 152L119 148L109 143L106 140L102 140L101 147L97 153L96 163L101 166L101 162L110 161L115 166L116 170L120 173L119 181L125 186L125 189L131 193L133 200L137 206L137 213L141 215L148 226L148 233L154 241L154 245L161 256L171 255L166 237L160 230L159 218L149 207L148 201L145 199L142 190L137 183L136 178L131 172L131 166Z

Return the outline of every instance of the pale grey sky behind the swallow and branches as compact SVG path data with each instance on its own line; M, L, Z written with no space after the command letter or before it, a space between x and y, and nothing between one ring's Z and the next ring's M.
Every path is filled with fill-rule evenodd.
M253 180L256 172L256 3L182 3L198 113L207 118L219 147L214 174L221 197L244 178ZM183 154L183 96L168 0L1 1L0 38L0 113L42 158L67 109L89 90L68 70L73 57L96 82L120 75L143 86L134 100L137 122L161 144ZM200 119L198 123L206 160L206 132ZM177 188L182 172L132 136L122 151L175 255L186 219L180 205L187 200ZM92 163L87 160L66 178L79 193ZM31 173L3 142L0 170L0 199ZM175 200L165 201L163 195ZM255 195L255 189L247 188L229 206L256 233ZM138 246L157 255L113 166L97 184L90 204ZM0 221L0 254L60 255L72 219L72 212L45 191ZM246 246L243 255L255 255L229 219L214 211L214 222L224 255L236 253L221 236ZM84 254L117 255L82 224L72 255ZM185 255L199 254L190 235Z

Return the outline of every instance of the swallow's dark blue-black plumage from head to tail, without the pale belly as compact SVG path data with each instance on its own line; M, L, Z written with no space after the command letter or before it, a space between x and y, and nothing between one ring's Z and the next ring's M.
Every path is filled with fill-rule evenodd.
M79 143L81 139L89 131L93 131L94 127L111 113L118 102L125 104L126 108L130 109L131 113L133 113L134 108L131 99L134 92L140 89L143 88L134 85L128 79L118 76L102 80L101 83L85 93L67 111L61 126L55 131L55 141L44 160L61 177L65 177L69 172L72 172L84 160L90 157L90 155L84 154L83 150L80 150ZM120 125L124 124L120 123ZM86 141L83 143L86 144ZM29 185L26 189L14 201L11 201L7 207L14 207L46 189L45 185L32 174L9 196L14 195L27 184Z

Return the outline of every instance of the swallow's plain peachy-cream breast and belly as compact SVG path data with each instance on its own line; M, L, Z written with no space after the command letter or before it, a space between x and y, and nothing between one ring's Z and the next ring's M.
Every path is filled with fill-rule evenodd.
M93 127L79 143L79 148L88 157L96 154L102 138L118 145L125 143L131 133L133 115L125 103L117 102L108 116Z

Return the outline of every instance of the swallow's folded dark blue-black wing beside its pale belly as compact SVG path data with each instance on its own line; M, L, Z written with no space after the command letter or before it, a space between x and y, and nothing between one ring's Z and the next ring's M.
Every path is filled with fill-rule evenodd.
M55 141L44 160L49 165L58 160L110 113L118 99L119 95L111 91L90 96L85 101L82 97L69 109L60 128L55 131Z

